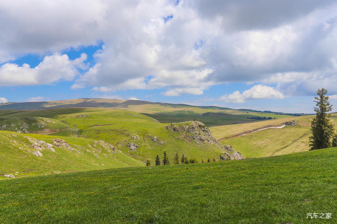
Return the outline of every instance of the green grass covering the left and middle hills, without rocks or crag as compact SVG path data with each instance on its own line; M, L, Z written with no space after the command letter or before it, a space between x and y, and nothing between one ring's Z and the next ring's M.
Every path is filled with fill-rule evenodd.
M42 152L43 157L36 157L32 154L33 151L29 151L32 147L29 146L28 143L23 144L24 136L30 135L20 135L14 132L12 132L13 135L10 135L10 132L0 131L0 141L6 142L7 144L5 148L2 147L0 149L2 155L0 161L4 161L0 169L1 174L18 171L20 174L22 173L22 175L28 175L29 173L39 174L44 171L50 173L50 170L65 172L126 166L145 166L145 161L148 159L154 164L156 155L162 158L164 151L167 151L171 162L173 162L173 156L176 152L178 152L180 156L184 154L188 158L195 158L199 162L208 160L209 158L212 159L213 157L219 159L222 153L222 150L216 145L197 143L179 133L172 133L165 129L165 126L169 124L159 123L151 117L136 112L94 108L0 112L2 112L0 115L2 122L12 124L14 125L13 127L18 127L19 130L19 124L21 124L22 120L41 120L44 121L45 124L58 126L53 127L58 130L58 132L51 132L49 135L34 135L34 138L47 143L52 143L55 138L62 138L70 145L73 145L74 149L83 152L77 154L65 149L62 152L63 154L61 152L61 154L54 154L46 150L45 153ZM48 123L45 120L51 122ZM31 128L32 123L28 121L26 122L28 124L28 132L36 132L36 130ZM19 124L15 122L19 122ZM63 126L65 128L71 127L75 129L80 138L71 138L72 133L67 131L68 129L60 131ZM36 125L33 127L36 127ZM48 128L50 131L52 127L48 126ZM63 137L57 136L56 134L62 135ZM11 136L16 137L11 138ZM156 141L154 141L154 137L156 137ZM118 153L112 155L111 153L107 153L106 150L97 153L97 150L88 147L88 145L93 146L93 142L99 140L103 140L116 147ZM27 140L25 140L25 142L27 142ZM129 148L129 144L133 143L138 146L135 150ZM20 148L27 150L21 150ZM91 152L87 152L86 149ZM92 150L95 150L95 153L92 152ZM96 158L94 154L97 154L98 158ZM109 156L105 158L104 154ZM120 157L114 158L116 156ZM123 158L123 156L129 158L130 161ZM72 161L73 157L74 161ZM107 160L109 160L110 157L112 160L108 162ZM20 169L18 169L20 166L17 166L19 163L22 164ZM81 167L81 163L84 164L83 167ZM31 168L29 168L29 164L31 164ZM31 169L32 172L28 172L28 169Z

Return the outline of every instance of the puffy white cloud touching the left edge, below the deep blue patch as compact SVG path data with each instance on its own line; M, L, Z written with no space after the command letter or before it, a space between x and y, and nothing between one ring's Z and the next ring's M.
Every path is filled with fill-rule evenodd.
M74 60L67 55L45 56L35 68L28 64L19 66L6 63L0 67L0 86L42 85L57 81L71 81L78 75L77 68L83 67L86 54Z

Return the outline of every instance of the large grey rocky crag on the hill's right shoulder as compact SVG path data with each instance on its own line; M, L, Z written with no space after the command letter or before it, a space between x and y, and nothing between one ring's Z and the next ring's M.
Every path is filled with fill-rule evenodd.
M183 138L190 139L197 144L211 144L219 147L223 153L220 155L222 160L243 159L240 152L235 151L229 145L221 145L211 134L206 125L200 121L188 121L170 124L165 129L179 133Z

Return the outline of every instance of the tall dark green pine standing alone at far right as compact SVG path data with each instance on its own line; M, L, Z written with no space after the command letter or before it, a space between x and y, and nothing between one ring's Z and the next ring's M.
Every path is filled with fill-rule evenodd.
M316 117L311 122L310 150L325 149L332 146L334 137L334 124L330 121L332 105L329 103L329 96L326 96L328 91L324 88L317 90L315 112Z

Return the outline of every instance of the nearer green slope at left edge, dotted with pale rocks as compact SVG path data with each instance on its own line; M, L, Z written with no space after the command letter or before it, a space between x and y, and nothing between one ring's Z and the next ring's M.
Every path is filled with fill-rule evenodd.
M57 147L54 143L56 138L63 139L69 147ZM2 175L26 176L144 166L119 150L113 151L101 141L85 138L0 131L0 146Z

